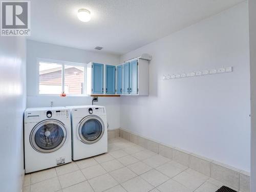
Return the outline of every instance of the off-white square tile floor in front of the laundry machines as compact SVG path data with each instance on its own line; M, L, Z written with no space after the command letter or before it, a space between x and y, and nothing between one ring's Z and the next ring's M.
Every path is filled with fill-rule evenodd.
M109 153L25 176L24 192L215 192L223 183L122 138Z

